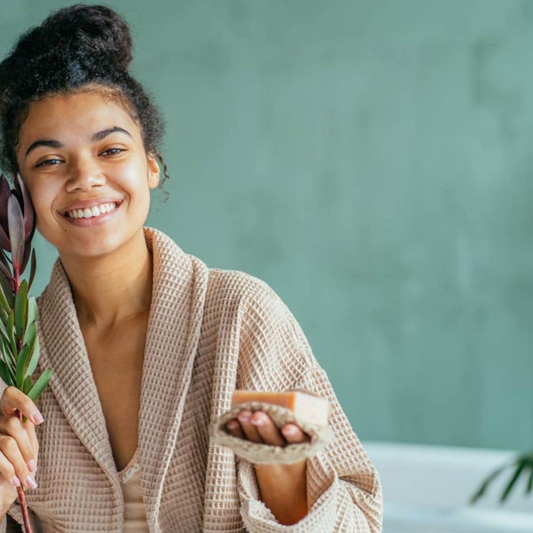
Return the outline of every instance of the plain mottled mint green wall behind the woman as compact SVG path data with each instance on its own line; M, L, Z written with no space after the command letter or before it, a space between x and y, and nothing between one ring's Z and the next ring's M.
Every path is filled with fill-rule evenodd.
M533 2L106 5L167 120L147 224L276 290L362 440L533 447Z

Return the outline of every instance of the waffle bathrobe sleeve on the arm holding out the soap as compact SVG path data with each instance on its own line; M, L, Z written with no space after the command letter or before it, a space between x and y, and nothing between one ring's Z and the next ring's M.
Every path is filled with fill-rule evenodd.
M334 439L308 459L308 514L280 524L260 499L253 464L236 457L240 513L250 533L382 531L379 475L352 430L324 369L314 358L300 325L281 298L257 278L248 294L239 335L237 389L306 389L332 407ZM333 354L332 354L333 357Z

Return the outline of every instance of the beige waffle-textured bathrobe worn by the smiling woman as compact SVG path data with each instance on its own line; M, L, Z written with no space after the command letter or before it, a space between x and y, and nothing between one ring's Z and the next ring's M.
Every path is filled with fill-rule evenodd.
M144 235L154 256L139 412L150 531L381 531L378 473L280 297L245 272L207 268L157 229ZM35 533L122 532L120 481L59 257L37 303L34 378L53 374L37 400L45 419L36 426L39 486L26 490ZM210 443L208 424L229 410L236 388L295 387L329 400L335 440L308 461L309 513L284 526L261 501L253 465ZM18 500L8 515L0 533L20 531Z

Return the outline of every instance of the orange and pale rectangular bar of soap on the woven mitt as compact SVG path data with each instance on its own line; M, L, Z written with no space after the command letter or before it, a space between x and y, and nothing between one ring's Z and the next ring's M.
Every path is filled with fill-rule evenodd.
M262 401L287 407L302 421L326 425L329 418L329 403L325 398L309 391L245 391L233 392L231 407L247 401Z

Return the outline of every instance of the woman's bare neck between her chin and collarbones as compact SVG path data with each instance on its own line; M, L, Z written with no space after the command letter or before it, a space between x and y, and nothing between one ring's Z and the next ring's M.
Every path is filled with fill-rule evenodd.
M154 265L142 229L112 255L94 260L62 255L61 262L80 326L106 332L148 314Z

